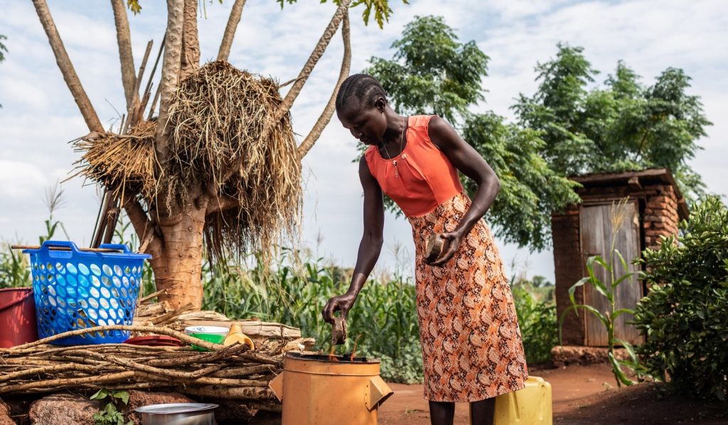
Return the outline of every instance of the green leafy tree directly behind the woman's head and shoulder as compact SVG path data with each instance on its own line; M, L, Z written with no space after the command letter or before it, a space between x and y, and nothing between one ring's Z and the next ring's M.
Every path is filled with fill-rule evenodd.
M400 114L437 114L459 127L467 143L493 167L501 191L488 212L496 234L540 250L550 237L550 214L577 202L573 183L554 172L540 156L539 132L507 124L488 112L472 114L483 100L481 79L488 56L475 41L462 44L442 17L416 17L395 41L392 60L372 57L364 72L375 76ZM475 194L468 179L464 186ZM387 200L387 206L396 210Z

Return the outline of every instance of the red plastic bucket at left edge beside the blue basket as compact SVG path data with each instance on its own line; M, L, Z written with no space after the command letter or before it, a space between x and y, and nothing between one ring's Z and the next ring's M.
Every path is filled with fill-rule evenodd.
M0 289L0 347L7 349L37 339L33 288Z

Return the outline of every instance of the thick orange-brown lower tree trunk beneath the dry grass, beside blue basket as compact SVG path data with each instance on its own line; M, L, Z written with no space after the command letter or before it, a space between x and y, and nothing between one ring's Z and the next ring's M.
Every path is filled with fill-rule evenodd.
M157 290L166 290L159 301L174 309L191 303L202 308L202 234L207 201L199 207L190 200L181 214L158 218L162 231L162 249L151 258Z

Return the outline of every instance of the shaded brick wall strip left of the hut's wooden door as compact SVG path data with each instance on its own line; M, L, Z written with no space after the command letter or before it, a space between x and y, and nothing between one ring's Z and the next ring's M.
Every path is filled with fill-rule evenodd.
M555 297L556 311L561 318L563 311L571 306L569 287L584 275L582 264L581 239L579 237L579 206L569 207L563 214L551 216L553 232L553 261L556 279ZM574 294L577 303L584 301L581 288ZM584 345L584 314L579 317L569 312L563 322L563 343L567 345Z

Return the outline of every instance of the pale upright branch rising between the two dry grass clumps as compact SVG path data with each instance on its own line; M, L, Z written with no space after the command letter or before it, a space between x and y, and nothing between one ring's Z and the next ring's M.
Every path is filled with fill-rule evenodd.
M165 56L162 60L162 81L159 83L161 104L157 119L154 148L157 159L164 169L169 156L170 128L167 125L167 114L172 95L177 88L182 55L183 0L167 0L167 36L165 36Z

